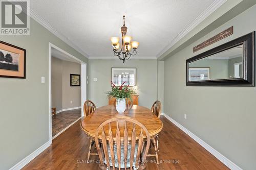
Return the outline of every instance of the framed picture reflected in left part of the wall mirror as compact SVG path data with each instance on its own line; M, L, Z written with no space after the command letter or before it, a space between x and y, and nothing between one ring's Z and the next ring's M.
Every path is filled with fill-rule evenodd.
M210 80L210 68L188 68L188 81Z

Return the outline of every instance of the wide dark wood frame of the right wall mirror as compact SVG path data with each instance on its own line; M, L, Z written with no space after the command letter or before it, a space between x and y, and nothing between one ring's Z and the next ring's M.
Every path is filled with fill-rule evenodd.
M212 48L202 54L186 60L186 85L187 86L255 86L255 31ZM232 47L243 44L243 78L219 79L204 81L188 81L188 63L223 52Z

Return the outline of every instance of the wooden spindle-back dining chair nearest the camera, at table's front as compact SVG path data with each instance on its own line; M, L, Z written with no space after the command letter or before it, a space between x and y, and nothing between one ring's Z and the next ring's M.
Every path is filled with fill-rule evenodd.
M120 125L123 126L123 130L121 131L119 128ZM137 128L137 131L135 127L139 127ZM125 170L129 168L131 170L133 168L144 169L146 167L145 160L147 152L150 148L150 142L143 140L145 137L146 141L150 141L150 134L146 127L131 117L114 117L103 122L97 128L95 134L100 168L114 170L115 166L118 166L116 169L120 169L122 162ZM101 146L99 140L102 142ZM138 141L137 144L136 140ZM123 150L121 148L123 148ZM131 152L129 152L129 148ZM121 150L123 151L122 153ZM121 160L121 157L123 157L123 160Z

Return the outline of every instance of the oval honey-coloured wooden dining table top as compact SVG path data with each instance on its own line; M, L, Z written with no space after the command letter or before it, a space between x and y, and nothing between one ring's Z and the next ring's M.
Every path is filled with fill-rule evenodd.
M162 121L152 113L152 111L146 107L131 105L126 108L124 113L118 113L114 105L102 106L97 108L94 113L91 113L87 117L84 117L81 122L81 129L88 135L88 137L94 139L96 129L100 124L113 117L117 116L129 116L142 123L150 133L151 138L156 136L163 128ZM116 126L111 124L113 134L115 134ZM127 123L128 132L132 130L132 124ZM124 130L124 123L119 123L120 135ZM137 135L139 135L140 128L135 127ZM104 127L106 134L108 134L109 128ZM100 133L101 134L101 133ZM129 134L130 136L131 134ZM101 136L99 136L101 138Z

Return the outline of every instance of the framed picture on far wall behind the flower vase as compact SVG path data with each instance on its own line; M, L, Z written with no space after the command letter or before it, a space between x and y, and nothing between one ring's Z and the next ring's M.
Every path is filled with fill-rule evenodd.
M136 68L111 68L111 81L116 86L130 84L131 87L136 85ZM111 85L113 86L113 85Z

